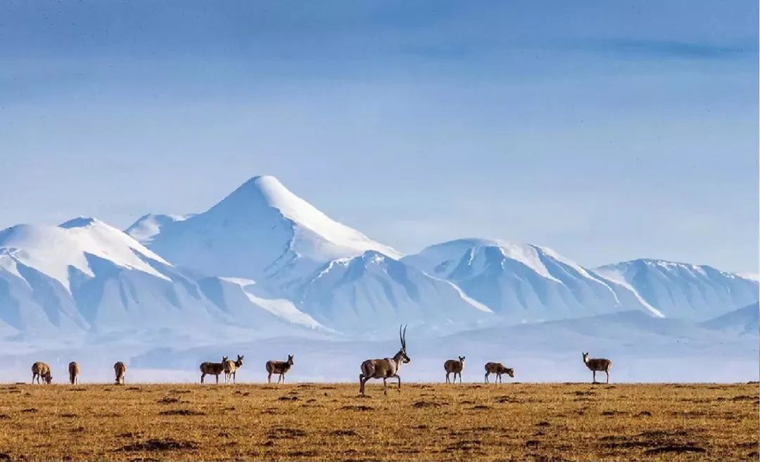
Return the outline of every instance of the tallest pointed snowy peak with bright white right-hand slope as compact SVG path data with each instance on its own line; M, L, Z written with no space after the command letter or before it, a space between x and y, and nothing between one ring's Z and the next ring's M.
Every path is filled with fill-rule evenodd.
M206 212L166 223L147 245L181 267L268 286L367 250L400 256L331 220L273 176L256 176Z

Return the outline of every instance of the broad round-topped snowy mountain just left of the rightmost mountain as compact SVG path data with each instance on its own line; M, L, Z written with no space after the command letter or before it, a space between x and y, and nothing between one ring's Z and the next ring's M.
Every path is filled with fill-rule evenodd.
M489 239L458 239L402 259L457 284L511 322L532 322L641 309L632 290L587 271L549 248Z

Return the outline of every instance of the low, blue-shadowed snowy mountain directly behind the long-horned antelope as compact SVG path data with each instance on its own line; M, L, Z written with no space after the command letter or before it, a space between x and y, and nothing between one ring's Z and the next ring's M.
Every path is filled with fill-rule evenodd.
M492 317L486 306L448 281L375 251L330 261L306 278L296 294L303 311L351 334L401 323L459 331Z

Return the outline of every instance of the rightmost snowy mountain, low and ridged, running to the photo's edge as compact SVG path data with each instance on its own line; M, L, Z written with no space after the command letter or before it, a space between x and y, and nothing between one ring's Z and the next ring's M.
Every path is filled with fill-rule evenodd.
M714 267L640 259L598 267L669 318L704 321L758 301L758 281Z

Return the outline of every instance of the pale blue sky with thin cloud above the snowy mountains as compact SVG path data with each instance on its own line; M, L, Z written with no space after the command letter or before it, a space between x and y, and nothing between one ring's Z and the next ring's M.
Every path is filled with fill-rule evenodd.
M416 252L758 265L758 3L0 3L0 227L277 176Z

